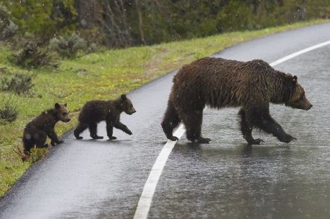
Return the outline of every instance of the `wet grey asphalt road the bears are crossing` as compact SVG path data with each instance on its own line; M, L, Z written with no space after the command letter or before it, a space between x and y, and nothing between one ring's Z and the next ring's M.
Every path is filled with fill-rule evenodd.
M330 24L278 33L222 51L237 60L271 63L330 39ZM271 106L272 116L298 138L285 144L253 132L265 145L248 147L238 108L207 110L210 145L175 145L157 185L149 218L329 218L330 46L275 68L298 76L310 111ZM132 218L150 169L166 138L159 123L172 74L129 93L137 113L124 115L134 133L119 140L74 140L52 149L0 200L0 218ZM106 136L104 124L100 135Z

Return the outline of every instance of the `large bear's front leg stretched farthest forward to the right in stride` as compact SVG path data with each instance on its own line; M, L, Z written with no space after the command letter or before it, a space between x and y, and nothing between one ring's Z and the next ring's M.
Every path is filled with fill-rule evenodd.
M253 124L254 127L258 127L267 133L272 133L278 140L284 143L290 143L292 140L297 140L290 136L288 133L282 129L281 125L278 124L270 115L269 110L256 110L250 109L247 111L246 119L251 122L249 124Z

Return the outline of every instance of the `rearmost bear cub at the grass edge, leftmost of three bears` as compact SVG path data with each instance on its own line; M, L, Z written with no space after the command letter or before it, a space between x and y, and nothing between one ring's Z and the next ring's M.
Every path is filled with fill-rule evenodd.
M38 117L26 124L23 133L23 146L24 153L29 154L30 149L36 145L36 147L48 147L45 144L47 136L51 139L51 145L63 143L63 140L59 140L54 131L56 122L69 122L67 104L55 104L54 108L51 108L45 112L42 112Z

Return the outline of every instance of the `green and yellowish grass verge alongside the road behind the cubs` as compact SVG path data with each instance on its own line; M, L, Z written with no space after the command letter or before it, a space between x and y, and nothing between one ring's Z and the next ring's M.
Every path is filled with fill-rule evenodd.
M224 33L154 46L102 51L62 60L57 70L24 70L10 64L7 57L12 51L0 44L0 68L6 67L13 73L31 74L35 83L33 97L0 92L0 98L4 96L15 99L19 111L15 122L0 125L0 197L31 165L22 162L13 152L17 145L22 145L21 136L25 124L56 102L68 103L69 110L75 111L71 113L72 122L59 122L56 125L56 133L61 136L77 124L77 111L88 100L113 99L185 63L210 56L239 42L322 22L327 21L315 20L259 31Z

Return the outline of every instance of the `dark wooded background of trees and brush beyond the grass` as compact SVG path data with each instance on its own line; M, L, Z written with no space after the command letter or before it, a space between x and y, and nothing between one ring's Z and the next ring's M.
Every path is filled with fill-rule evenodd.
M21 33L52 38L77 32L112 48L330 17L330 0L1 1L10 14L5 22L12 20Z

